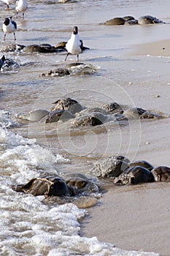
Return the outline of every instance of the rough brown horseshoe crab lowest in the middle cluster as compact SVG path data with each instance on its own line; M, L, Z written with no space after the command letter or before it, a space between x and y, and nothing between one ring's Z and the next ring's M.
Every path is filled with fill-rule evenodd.
M74 121L72 121L72 128L85 127L87 125L96 126L96 125L104 124L106 119L107 119L107 116L98 112L85 114L75 118Z

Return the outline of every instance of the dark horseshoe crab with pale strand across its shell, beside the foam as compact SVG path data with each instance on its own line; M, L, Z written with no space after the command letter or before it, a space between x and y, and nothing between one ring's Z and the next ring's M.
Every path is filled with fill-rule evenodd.
M45 195L45 197L71 194L66 182L59 177L32 178L26 184L12 186L12 189L16 192L30 193L34 196Z

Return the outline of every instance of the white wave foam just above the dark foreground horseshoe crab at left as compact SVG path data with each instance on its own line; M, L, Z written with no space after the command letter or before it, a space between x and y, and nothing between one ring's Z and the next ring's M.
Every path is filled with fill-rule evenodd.
M3 167L6 175L18 182L26 182L44 171L57 174L55 164L69 162L61 154L54 155L48 148L36 144L35 139L23 138L2 127L0 143L0 167Z

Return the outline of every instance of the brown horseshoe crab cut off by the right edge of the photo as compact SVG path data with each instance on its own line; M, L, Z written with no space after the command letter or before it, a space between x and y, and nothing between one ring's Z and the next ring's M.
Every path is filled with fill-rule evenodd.
M152 175L155 181L170 181L170 168L167 166L158 166L152 169Z

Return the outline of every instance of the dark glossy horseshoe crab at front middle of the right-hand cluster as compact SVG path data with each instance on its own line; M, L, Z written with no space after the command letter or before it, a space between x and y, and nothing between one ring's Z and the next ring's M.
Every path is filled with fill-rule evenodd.
M154 181L152 173L142 166L130 167L125 170L114 183L118 185L140 184Z

